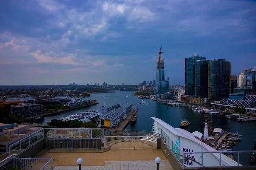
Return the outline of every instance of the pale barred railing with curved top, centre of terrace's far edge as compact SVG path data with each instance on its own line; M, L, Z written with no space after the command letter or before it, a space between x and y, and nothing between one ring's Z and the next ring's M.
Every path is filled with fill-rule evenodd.
M105 136L105 149L152 149L156 147L155 136Z

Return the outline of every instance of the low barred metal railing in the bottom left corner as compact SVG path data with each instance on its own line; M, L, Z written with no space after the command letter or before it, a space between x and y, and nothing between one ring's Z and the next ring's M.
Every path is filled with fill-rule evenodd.
M22 170L53 170L52 158L13 158L13 167Z

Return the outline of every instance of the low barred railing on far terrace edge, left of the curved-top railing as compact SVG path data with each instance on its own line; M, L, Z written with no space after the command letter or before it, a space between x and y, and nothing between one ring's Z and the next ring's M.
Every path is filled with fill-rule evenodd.
M100 139L99 139L100 140ZM93 139L46 139L47 149L97 149Z

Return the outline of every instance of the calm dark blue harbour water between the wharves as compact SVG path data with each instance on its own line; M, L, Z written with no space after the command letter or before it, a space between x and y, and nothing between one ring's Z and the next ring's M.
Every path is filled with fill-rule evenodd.
M113 102L118 102L120 105L123 105L126 102L131 102L133 105L139 108L137 114L138 119L134 127L128 125L127 129L132 128L151 131L154 122L151 117L157 117L176 128L179 127L181 120L186 119L191 123L191 125L186 130L191 133L196 130L203 133L203 122L206 117L209 116L213 122L214 127L222 128L233 133L242 133L243 139L241 142L237 143L236 146L231 147L233 150L251 150L253 147L254 139L256 139L256 122L236 122L235 120L221 119L216 116L196 113L189 107L169 107L166 105L160 105L150 99L144 99L145 102L149 103L148 105L140 105L139 103L142 99L138 98L137 96L132 96L132 93L133 92L131 91L116 91L116 93L91 94L90 99L96 99L99 102L98 105L93 105L87 108L80 108L73 111L67 111L55 116L45 117L43 122L46 124L51 119L58 119L63 116L69 116L71 114L75 114L76 111L97 110L100 106L104 105L104 103L107 105ZM129 97L126 98L126 95ZM105 98L103 96L105 96ZM116 99L116 101L114 101L114 99Z

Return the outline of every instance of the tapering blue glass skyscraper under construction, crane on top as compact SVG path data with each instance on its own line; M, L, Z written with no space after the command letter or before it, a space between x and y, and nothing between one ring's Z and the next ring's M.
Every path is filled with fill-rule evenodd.
M164 61L162 47L158 52L159 58L157 61L157 75L156 75L156 98L160 99L161 94L169 92L169 79L166 81L164 77Z

